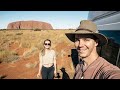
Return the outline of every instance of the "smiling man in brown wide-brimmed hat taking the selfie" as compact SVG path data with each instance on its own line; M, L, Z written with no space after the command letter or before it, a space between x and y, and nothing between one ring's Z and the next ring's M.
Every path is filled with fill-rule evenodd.
M79 63L75 69L75 79L120 79L120 69L97 53L97 47L107 44L107 37L100 34L97 25L90 20L82 20L74 33L66 33L78 51Z

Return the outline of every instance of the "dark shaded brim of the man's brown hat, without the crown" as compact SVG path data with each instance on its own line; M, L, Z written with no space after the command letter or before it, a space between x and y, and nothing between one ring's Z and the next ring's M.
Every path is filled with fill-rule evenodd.
M94 35L99 39L99 45L98 46L103 46L105 44L107 44L108 39L106 36L104 36L101 33L78 33L78 32L74 32L74 33L65 33L65 35L68 37L68 39L72 42L75 42L75 35Z

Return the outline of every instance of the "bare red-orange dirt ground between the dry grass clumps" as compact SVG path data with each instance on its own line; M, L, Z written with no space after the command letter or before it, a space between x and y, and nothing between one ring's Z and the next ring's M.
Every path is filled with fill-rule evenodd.
M56 47L58 52L61 52L65 44L61 43L60 46ZM16 50L17 53L21 56L27 49L26 48L18 48L19 44L11 44L9 49ZM63 49L64 50L64 49ZM69 47L64 51L67 52ZM16 62L10 63L1 63L0 64L0 75L5 76L4 79L41 79L37 78L36 75L38 73L38 62L39 62L39 52L34 55L31 55L29 58L21 57ZM71 70L71 59L67 54L64 54L64 59L61 59L61 56L58 57L57 63L60 67L65 67L69 74L72 75ZM34 67L26 67L26 64L34 64ZM60 71L58 71L60 72ZM60 73L61 75L61 73Z

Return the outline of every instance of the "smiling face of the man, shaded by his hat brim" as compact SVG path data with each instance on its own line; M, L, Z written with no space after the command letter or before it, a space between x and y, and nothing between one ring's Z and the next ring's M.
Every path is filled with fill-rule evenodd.
M86 58L96 52L98 43L94 39L92 35L75 35L75 47L80 57Z

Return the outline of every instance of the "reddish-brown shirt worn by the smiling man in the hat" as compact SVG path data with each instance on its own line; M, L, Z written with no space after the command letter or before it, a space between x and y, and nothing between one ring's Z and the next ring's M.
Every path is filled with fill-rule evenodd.
M83 69L82 69L83 66ZM120 79L120 69L117 66L99 57L89 66L83 64L76 66L75 79Z

